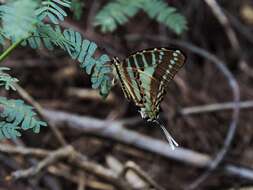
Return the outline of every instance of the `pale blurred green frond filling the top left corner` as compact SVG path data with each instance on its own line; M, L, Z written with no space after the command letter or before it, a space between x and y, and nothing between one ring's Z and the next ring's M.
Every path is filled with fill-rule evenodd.
M1 32L12 41L26 38L36 30L36 1L19 0L0 6ZM2 36L3 37L3 36Z

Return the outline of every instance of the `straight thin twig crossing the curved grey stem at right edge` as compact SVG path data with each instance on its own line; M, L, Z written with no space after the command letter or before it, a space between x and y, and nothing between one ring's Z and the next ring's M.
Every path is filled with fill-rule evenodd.
M238 103L240 109L249 109L253 108L253 101L241 101ZM216 104L208 104L202 106L192 106L187 108L182 108L178 112L181 115L192 115L192 114L203 114L209 112L216 112L216 111L224 111L224 110L231 110L235 108L234 102L226 102L226 103L216 103Z

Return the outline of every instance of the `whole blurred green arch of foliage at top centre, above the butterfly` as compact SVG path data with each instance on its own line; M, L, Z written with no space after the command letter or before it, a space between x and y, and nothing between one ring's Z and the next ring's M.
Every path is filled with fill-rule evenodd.
M105 5L97 14L94 25L100 26L102 32L112 32L119 25L143 10L151 19L165 24L177 34L187 29L186 19L177 13L174 7L163 0L114 0Z

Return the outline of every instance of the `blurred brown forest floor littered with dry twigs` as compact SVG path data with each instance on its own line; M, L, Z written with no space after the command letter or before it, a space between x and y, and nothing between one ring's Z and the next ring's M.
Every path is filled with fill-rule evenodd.
M4 65L42 105L64 142L46 127L16 140L25 146L22 150L8 140L1 143L0 189L109 190L124 183L139 189L253 188L253 20L245 13L253 14L252 2L219 1L225 24L207 0L174 2L188 20L180 37L143 14L114 33L101 34L89 23L92 2L86 3L82 20L63 26L81 31L101 52L122 59L166 46L187 55L161 105L179 148L167 148L161 130L141 119L119 85L103 100L90 88L89 76L63 52L20 48ZM20 175L14 171L38 169L40 161L44 170L35 177L8 180L11 173Z

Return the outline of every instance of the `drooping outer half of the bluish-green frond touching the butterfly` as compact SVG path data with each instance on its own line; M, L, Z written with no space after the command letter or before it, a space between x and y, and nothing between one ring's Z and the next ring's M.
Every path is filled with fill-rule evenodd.
M112 70L108 64L110 58L105 54L94 58L97 45L87 39L82 39L81 34L72 29L64 30L64 36L75 47L74 51L70 51L72 59L78 60L80 67L91 75L92 88L99 88L100 94L106 97L111 89L109 75Z

